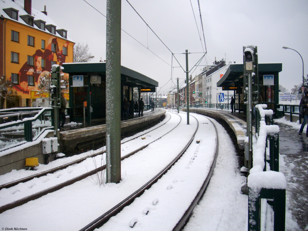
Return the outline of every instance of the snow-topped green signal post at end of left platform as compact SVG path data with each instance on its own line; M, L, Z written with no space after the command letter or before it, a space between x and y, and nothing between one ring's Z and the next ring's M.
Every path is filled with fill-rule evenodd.
M59 65L52 65L51 67L51 98L52 98L52 107L54 108L54 123L55 123L55 132L56 136L59 137L58 129L60 128L59 121L59 108L61 108L61 67Z

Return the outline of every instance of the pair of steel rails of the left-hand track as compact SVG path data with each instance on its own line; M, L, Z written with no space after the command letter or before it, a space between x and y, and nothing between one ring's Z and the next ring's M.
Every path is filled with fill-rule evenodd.
M170 117L170 118L171 118L171 117ZM166 124L166 123L170 120L170 118L169 118L164 124ZM157 139L153 140L152 142L150 142L150 143L148 143L148 144L145 144L145 145L143 145L143 146L141 146L141 147L135 149L133 152L130 152L130 153L126 154L125 156L122 156L122 157L121 157L121 160L124 160L125 158L128 158L129 156L132 156L132 155L135 154L136 152L139 152L140 150L146 148L149 144L152 144L152 143L155 142L156 140L159 140L160 138L162 138L163 136L165 136L166 134L168 134L169 132L171 132L173 129L175 129L175 128L180 124L180 122L181 122L181 117L180 117L180 121L178 122L178 124L176 124L176 126L173 127L171 130L169 130L168 132L164 133L162 136L158 137ZM162 124L162 125L164 125L164 124ZM161 127L162 125L160 125L159 127ZM157 127L157 128L159 128L159 127ZM152 132L153 130L155 130L155 129L157 129L157 128L154 128L154 129L152 129L151 131L145 132L145 133L143 133L143 134L140 135L140 136L144 136L145 134L147 134L147 133L149 133L149 132ZM136 139L136 138L138 138L138 137L140 137L140 136L134 137L134 138L132 138L132 139L130 139L130 140ZM130 141L130 140L127 140L127 141L125 141L125 142L123 142L123 143L126 143L126 142L128 142L128 141ZM103 152L105 152L105 151L103 151ZM83 158L82 160L85 160L85 159L87 159L87 158L89 158L89 157L97 156L97 155L99 155L99 154L102 154L103 152L96 153L96 154L91 155L91 156L87 156L87 157ZM74 161L74 162L65 164L65 165L63 165L63 166L66 166L66 167L67 167L67 166L70 166L70 165L72 165L72 164L79 163L79 162L81 162L82 160L76 160L76 161ZM78 162L77 162L77 161L78 161ZM55 172L55 171L57 171L57 170L66 168L66 167L62 167L62 168L60 168L60 167L62 167L62 166L59 166L59 167L57 167L57 168L54 168L54 169L56 169L56 170L53 170L53 169L51 169L51 170L53 170L52 172ZM100 171L104 170L105 168L106 168L106 165L100 166L100 167L95 168L94 170L92 170L92 171L90 171L90 172L87 172L87 173L82 174L82 175L80 175L80 176L78 176L78 177L72 178L72 179L70 179L70 180L67 180L67 181L65 181L65 182L63 182L63 183L61 183L61 184L58 184L58 185L53 186L53 187L51 187L51 188L47 188L47 189L42 190L42 191L40 191L40 192L38 192L38 193L32 194L32 195L30 195L30 196L28 196L28 197L24 197L24 198L22 198L22 199L20 199L20 200L17 200L17 201L14 201L14 202L12 202L12 203L9 203L9 204L7 204L7 205L4 205L4 206L0 207L0 213L3 213L4 211L6 211L6 210L8 210L8 209L13 209L13 208L15 208L15 207L17 207L17 206L23 205L23 204L25 204L25 203L27 203L27 202L29 202L29 201L35 200L35 199L37 199L37 198L39 198L39 197L42 197L42 196L44 196L44 195L46 195L46 194L48 194L48 193L55 192L55 191L57 191L57 190L59 190L59 189L65 187L65 186L74 184L75 182L77 182L77 181L79 181L79 180L82 180L82 179L85 179L86 177L91 176L91 175L93 175L93 174L96 174L97 172L100 172ZM50 172L51 170L45 171L45 174L44 174L44 175L46 175L46 174L48 174L48 173L52 173L52 172ZM47 172L47 173L46 173L46 172ZM43 173L43 172L38 173L38 174L36 174L34 177L38 177L37 175L42 174L42 173ZM41 175L41 176L43 176L43 175ZM34 177L31 176L31 179L33 179ZM31 179L28 179L28 180L31 180ZM22 179L21 179L21 180L22 180ZM28 180L26 180L26 181L28 181ZM26 182L26 181L20 181L20 182L18 182L18 183ZM13 183L13 182L11 182L11 183ZM16 184L18 184L18 183L14 182L14 185L16 185ZM8 183L8 184L9 184L9 183ZM12 187L12 186L13 186L13 185L11 185L10 187Z

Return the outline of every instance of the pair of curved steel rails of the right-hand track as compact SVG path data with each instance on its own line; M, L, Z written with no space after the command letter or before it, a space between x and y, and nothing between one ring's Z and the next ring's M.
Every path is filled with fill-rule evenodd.
M177 113L175 113L175 114L177 114ZM193 115L191 115L191 116L193 116ZM196 117L194 117L194 118L197 120ZM208 117L206 117L206 118L209 119ZM216 138L216 151L215 151L215 156L214 156L214 159L213 159L212 166L210 168L208 176L204 180L204 182L202 184L202 187L199 190L199 192L197 193L196 197L191 202L190 206L185 211L184 215L181 217L181 219L177 222L177 224L173 228L174 231L179 231L179 230L182 230L184 228L184 226L186 225L186 223L187 223L191 213L193 212L194 207L197 205L197 203L200 201L202 195L205 193L205 190L206 190L206 188L207 188L207 186L209 184L209 180L210 180L210 178L212 176L212 173L213 173L213 170L214 170L214 167L215 167L215 164L216 164L217 155L218 155L218 145L219 145L219 142L218 142L217 128L216 128L215 124L212 121L211 121L211 123L213 124L213 126L215 128L216 137L217 137ZM142 193L144 193L144 191L146 189L150 188L154 183L156 183L156 181L159 180L177 162L177 160L179 160L180 157L184 154L184 152L186 151L188 146L193 141L193 138L194 138L194 136L195 136L195 134L196 134L196 132L198 130L198 127L199 127L199 123L198 123L198 120L197 120L197 128L196 128L195 132L193 133L193 135L192 135L191 139L189 140L189 142L185 145L185 147L180 151L180 153L163 170L161 170L156 176L154 176L151 180L149 180L141 188L139 188L134 193L132 193L129 197L127 197L126 199L121 201L118 205L114 206L112 209L110 209L109 211L104 213L102 216L98 217L97 219L95 219L94 221L92 221L91 223L89 223L88 225L86 225L85 227L80 229L79 231L92 231L92 230L94 230L96 228L101 227L104 223L106 223L109 220L109 218L115 216L125 206L131 204L136 197L139 197Z

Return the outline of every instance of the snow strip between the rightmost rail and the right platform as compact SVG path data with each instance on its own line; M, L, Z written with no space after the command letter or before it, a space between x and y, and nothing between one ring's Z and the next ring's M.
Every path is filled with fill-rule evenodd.
M246 177L239 173L237 156L228 133L211 120L219 136L218 157L205 194L193 210L184 231L247 231L248 196L241 193Z

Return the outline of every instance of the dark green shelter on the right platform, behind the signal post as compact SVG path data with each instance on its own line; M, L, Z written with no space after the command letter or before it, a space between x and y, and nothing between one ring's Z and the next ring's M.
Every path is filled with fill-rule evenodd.
M279 72L282 71L282 63L258 63L258 90L262 97L262 103L267 104L267 109L274 111L277 115L277 104L279 103ZM246 113L244 106L244 69L242 63L232 63L225 74L217 82L217 87L223 90L234 90L238 94L235 101L236 110ZM256 84L256 83L255 83Z

